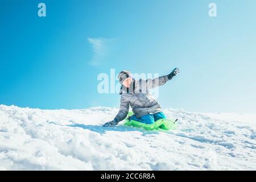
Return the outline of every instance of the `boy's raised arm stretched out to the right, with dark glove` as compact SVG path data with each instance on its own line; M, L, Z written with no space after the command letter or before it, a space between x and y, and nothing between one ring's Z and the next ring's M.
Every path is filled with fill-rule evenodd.
M142 80L142 83L144 82L143 85L146 85L147 89L155 88L157 86L162 86L166 84L167 81L171 80L174 76L177 75L177 73L180 72L179 68L175 68L169 75L166 76L160 76L158 78L154 79L147 79L147 80Z

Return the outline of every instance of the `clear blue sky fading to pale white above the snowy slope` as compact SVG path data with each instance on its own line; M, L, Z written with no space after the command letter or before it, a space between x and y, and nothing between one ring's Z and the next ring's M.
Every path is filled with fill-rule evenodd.
M38 16L40 2L46 17ZM98 74L179 67L159 88L163 108L255 113L255 7L254 0L1 1L0 104L119 107L119 94L97 92Z

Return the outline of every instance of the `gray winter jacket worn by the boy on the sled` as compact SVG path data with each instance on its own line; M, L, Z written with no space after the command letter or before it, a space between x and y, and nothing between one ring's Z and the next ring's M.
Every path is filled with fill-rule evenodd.
M121 94L121 105L115 119L118 122L125 119L129 111L129 105L131 105L133 113L137 118L161 111L160 105L149 91L156 86L164 85L168 80L167 76L160 76L147 80L133 79L133 84L129 89L122 85L119 93Z

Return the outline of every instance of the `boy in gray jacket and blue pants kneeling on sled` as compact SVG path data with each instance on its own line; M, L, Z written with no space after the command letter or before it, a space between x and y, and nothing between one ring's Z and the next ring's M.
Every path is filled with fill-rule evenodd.
M121 105L113 121L107 122L103 126L115 126L118 122L125 119L129 111L129 105L131 105L134 113L134 115L129 118L130 120L152 124L158 119L166 118L160 105L152 94L150 94L149 90L156 86L164 85L179 72L180 69L175 68L166 76L160 76L155 79L134 80L131 72L126 70L121 71L118 74L118 80L122 85L119 92L119 94L121 94Z

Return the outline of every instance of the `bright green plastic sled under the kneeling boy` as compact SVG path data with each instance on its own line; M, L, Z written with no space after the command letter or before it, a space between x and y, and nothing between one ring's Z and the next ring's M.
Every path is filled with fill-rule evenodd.
M129 121L128 117L133 115L133 112L129 112L127 114L127 118L125 119L125 125L126 126L134 126L134 127L142 127L145 130L175 130L176 129L176 122L171 119L158 119L158 121L155 121L152 124L146 124L139 121L131 120Z

